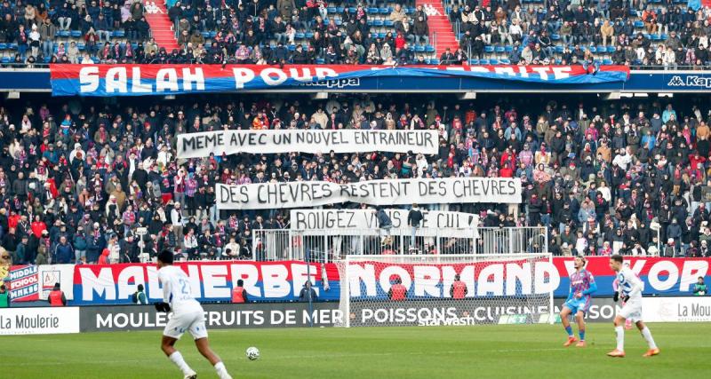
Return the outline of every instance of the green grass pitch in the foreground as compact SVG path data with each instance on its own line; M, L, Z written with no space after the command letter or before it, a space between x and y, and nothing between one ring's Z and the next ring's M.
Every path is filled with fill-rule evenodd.
M612 326L589 324L585 349L563 348L560 325L211 330L235 378L702 378L711 373L711 324L650 324L661 354L644 359L636 329L627 358L605 356ZM160 332L0 336L4 378L180 378ZM244 351L257 346L261 358ZM216 378L189 336L177 344L200 378Z

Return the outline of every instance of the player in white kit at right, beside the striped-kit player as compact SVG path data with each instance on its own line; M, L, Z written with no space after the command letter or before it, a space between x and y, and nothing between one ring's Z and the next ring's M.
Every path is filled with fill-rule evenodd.
M620 255L610 257L610 268L617 274L618 290L613 297L615 301L620 298L625 302L622 309L615 316L615 335L617 336L617 349L607 353L610 357L624 358L625 357L625 320L629 319L635 323L640 333L647 341L649 350L643 354L643 357L652 357L659 354L659 348L654 343L654 338L651 336L651 331L642 322L642 291L644 283L629 266L624 265L624 258Z

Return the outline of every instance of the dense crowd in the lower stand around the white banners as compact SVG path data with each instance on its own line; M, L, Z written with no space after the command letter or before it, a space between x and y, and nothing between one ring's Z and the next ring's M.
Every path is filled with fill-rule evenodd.
M475 176L521 178L523 204L426 207L477 213L483 226L546 226L556 255L710 256L707 105L191 101L0 108L2 247L36 264L137 262L161 249L248 258L253 231L287 228L288 209L219 212L215 183ZM434 129L440 148L175 158L177 133L318 128Z

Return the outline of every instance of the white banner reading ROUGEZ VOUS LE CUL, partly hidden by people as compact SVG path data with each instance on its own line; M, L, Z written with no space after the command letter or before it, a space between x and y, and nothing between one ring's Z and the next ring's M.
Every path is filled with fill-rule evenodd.
M384 209L394 229L405 229L407 226L407 209ZM479 216L471 213L449 212L421 209L424 217L419 224L422 233L451 234L461 231L474 233L477 237ZM291 229L299 230L304 235L322 233L338 233L340 235L358 235L371 230L378 233L379 223L375 209L292 209L289 220ZM408 229L409 230L409 229ZM409 232L408 232L409 233ZM455 237L456 235L443 235Z

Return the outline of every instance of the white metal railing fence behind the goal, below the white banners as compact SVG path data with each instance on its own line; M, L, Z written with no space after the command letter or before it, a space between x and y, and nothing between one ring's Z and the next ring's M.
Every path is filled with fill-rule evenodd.
M520 254L548 250L545 227L478 229L260 229L252 257L258 261L332 262L348 255Z

